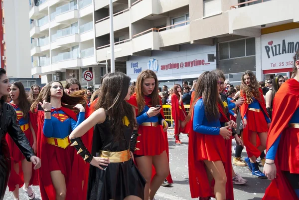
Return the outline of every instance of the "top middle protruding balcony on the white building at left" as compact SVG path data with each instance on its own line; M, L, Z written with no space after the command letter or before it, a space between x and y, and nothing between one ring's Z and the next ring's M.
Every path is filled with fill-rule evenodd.
M78 21L78 4L74 2L56 7L55 20L57 23L72 24Z

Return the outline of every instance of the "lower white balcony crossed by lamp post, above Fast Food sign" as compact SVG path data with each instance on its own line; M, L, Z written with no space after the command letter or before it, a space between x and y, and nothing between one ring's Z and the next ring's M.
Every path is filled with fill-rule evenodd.
M114 43L114 55L116 58L132 55L132 42L131 39L123 40ZM110 44L100 46L97 48L97 62L110 59L111 48Z

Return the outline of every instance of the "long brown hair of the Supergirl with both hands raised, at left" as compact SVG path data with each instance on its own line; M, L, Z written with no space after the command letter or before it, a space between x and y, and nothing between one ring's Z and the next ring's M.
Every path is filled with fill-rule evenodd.
M39 102L43 102L44 100L46 102L50 102L51 101L51 92L50 89L52 87L52 83L60 83L60 85L62 86L62 83L60 81L51 81L49 82L47 85L45 85L38 97L36 98L36 100L32 103L31 105L31 112L35 112L35 109L37 107L37 104ZM62 86L62 97L61 97L61 105L63 107L69 108L69 109L73 109L73 107L75 105L77 105L78 103L82 103L83 101L85 101L85 97L84 95L77 95L77 96L69 96L68 94L66 94L63 90L63 86Z

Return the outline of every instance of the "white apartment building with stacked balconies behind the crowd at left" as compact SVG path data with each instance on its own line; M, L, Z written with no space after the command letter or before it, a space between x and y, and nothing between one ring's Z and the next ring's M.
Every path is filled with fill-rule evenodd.
M42 82L77 78L96 63L93 0L31 0L31 73ZM89 83L91 84L91 83Z

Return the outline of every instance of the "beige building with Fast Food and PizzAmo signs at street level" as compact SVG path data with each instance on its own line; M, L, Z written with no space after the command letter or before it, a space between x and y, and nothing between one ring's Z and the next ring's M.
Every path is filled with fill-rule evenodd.
M222 69L235 85L240 84L246 69L254 71L259 80L282 72L290 75L290 57L299 48L298 40L295 41L299 33L295 11L298 3L298 0L113 0L116 68L126 71L132 80L142 70L154 70L160 84L169 86L182 80L192 81L203 71L216 68ZM109 63L109 0L95 0L94 8L97 61ZM283 33L286 30L289 32ZM284 55L274 53L279 54L277 58L267 60L267 52L272 53L272 47L275 48L270 41L279 37L277 34L293 38L290 42L294 42L294 48ZM265 47L265 42L270 42L269 47ZM288 60L279 58L282 56ZM284 68L279 67L282 64L278 60L284 62ZM270 68L278 71L268 71L270 63L276 63ZM100 74L105 73L105 65L100 66Z

